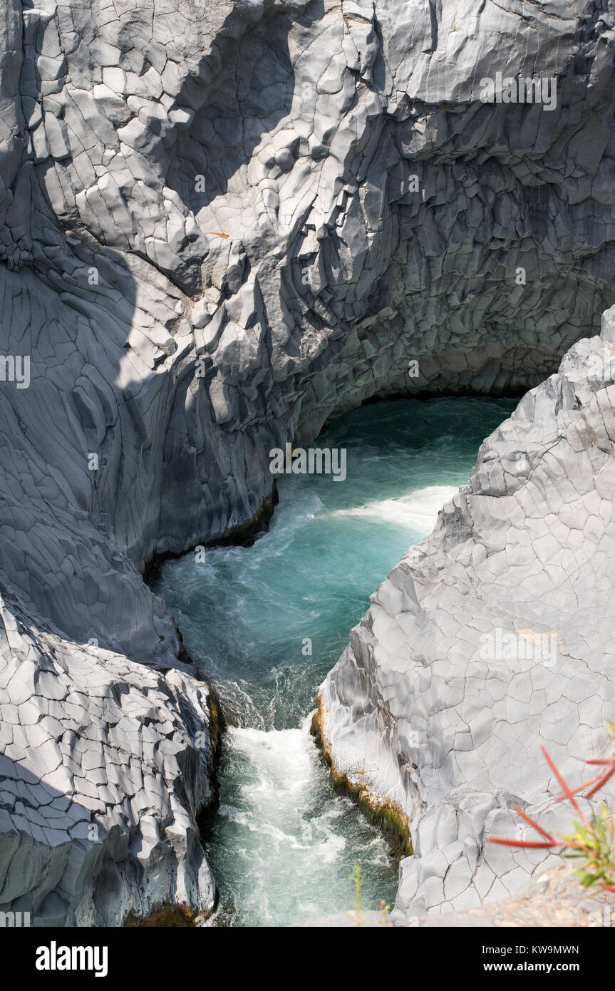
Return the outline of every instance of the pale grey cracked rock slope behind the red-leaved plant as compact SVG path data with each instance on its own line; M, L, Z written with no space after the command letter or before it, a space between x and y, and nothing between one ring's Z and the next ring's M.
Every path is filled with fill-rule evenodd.
M571 822L541 746L574 785L609 754L614 383L612 309L483 442L320 689L336 773L409 824L406 914L516 894L549 854L486 836L537 838L515 805L552 832Z

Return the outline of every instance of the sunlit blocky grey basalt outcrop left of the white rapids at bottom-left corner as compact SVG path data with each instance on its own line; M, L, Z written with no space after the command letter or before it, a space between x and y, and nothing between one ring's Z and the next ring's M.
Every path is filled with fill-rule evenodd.
M211 801L207 686L0 608L2 911L35 926L211 911L194 822Z

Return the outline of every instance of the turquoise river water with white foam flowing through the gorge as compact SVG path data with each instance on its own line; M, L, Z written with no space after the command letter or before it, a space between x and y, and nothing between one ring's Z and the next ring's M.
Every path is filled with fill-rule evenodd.
M252 547L163 564L155 591L227 719L220 811L207 853L220 889L214 925L289 926L392 903L397 864L337 795L309 735L315 691L368 597L467 481L515 400L440 398L362 406L318 446L346 448L347 478L282 476Z

